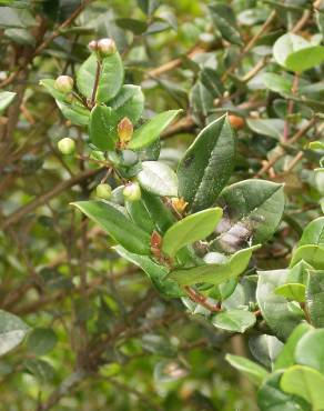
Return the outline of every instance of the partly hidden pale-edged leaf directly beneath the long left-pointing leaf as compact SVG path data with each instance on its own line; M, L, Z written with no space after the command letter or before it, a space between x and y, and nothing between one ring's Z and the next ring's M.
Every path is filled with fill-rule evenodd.
M122 258L140 267L162 295L168 298L178 298L183 295L183 291L174 281L165 279L168 273L168 269L165 267L158 264L151 260L150 257L131 253L121 245L114 247L113 249Z

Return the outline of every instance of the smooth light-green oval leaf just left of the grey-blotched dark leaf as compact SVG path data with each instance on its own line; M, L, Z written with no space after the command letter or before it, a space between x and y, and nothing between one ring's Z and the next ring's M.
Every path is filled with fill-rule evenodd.
M165 232L162 251L173 257L184 245L205 239L214 231L222 214L223 210L216 207L188 215L178 221Z

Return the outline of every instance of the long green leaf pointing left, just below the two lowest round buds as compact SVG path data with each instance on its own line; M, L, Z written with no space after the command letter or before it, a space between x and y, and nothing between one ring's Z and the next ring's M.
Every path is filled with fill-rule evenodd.
M150 234L130 221L112 203L78 201L72 203L130 252L150 254Z

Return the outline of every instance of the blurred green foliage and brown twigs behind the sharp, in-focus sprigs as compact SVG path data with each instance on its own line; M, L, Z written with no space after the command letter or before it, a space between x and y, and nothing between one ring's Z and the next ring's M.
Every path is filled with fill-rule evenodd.
M70 208L92 196L102 176L84 160L87 130L63 119L39 86L73 76L88 42L111 37L125 83L143 89L145 118L184 109L163 134L161 159L176 164L199 130L229 111L239 136L232 180L252 178L279 147L288 110L261 81L265 68L281 73L272 46L296 24L312 39L324 19L306 0L213 4L230 6L229 32L217 29L220 17L206 0L0 0L0 87L17 93L0 117L0 307L33 329L0 360L1 410L257 409L253 387L224 361L226 352L250 357L253 335L222 332L179 301L163 300ZM314 107L323 111L322 79L320 67L302 80L320 86L297 98L290 136ZM321 123L312 129L312 139L322 130ZM77 141L77 157L58 152L63 137ZM259 268L285 267L303 227L318 215L321 187L312 170L320 157L304 150L292 163L304 142L263 173L286 182L287 207L275 238L256 253Z

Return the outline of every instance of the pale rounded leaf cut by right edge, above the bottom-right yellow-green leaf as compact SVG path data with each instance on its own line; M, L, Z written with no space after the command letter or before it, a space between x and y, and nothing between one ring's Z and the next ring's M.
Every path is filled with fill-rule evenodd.
M307 365L324 373L324 330L313 330L304 334L295 350L297 364Z

